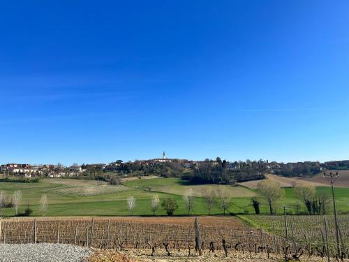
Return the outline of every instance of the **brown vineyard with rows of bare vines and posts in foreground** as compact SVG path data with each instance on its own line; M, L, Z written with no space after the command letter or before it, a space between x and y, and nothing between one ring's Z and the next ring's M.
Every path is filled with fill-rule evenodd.
M282 217L253 217L261 225L274 224L274 231L263 231L242 224L233 217L200 217L195 227L193 217L169 219L156 218L91 218L91 219L3 219L1 221L1 243L64 243L95 247L98 249L147 249L149 255L166 252L185 252L188 256L202 252L231 252L243 254L281 254L285 258L299 256L324 257L324 242L321 241L320 218L292 217L290 240L283 234ZM318 227L312 226L312 221ZM329 220L329 223L332 223ZM346 224L344 224L346 223ZM343 228L348 228L348 217L341 217ZM312 228L311 233L309 228ZM348 230L348 229L347 229ZM200 245L198 235L200 232ZM292 232L292 233L291 233ZM318 235L320 235L320 240ZM348 231L343 231L343 242L348 242ZM330 254L334 256L334 243ZM348 252L348 249L346 249ZM345 258L346 254L343 256Z

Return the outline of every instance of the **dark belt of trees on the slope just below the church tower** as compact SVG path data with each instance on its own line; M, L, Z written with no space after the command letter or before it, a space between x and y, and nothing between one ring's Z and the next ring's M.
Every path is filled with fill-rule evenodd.
M260 180L267 173L267 162L246 161L228 163L217 157L215 160L206 159L200 164L184 167L179 162L163 162L145 164L142 162L120 163L114 166L112 172L103 172L96 166L82 166L85 170L80 179L103 180L110 184L118 184L117 177L121 176L148 176L181 177L191 184L236 184L249 180ZM115 175L113 175L115 174ZM117 176L118 175L118 176Z

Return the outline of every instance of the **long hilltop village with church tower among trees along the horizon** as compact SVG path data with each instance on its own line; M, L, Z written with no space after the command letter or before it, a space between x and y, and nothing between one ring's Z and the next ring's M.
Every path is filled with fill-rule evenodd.
M290 170L304 170L305 168L312 168L314 172L318 172L326 169L349 169L349 160L344 161L329 161L325 163L320 163L318 161L304 161L296 163L279 163L276 161L269 162L267 160L263 161L221 161L217 158L216 160L206 159L205 161L193 161L188 159L169 159L166 157L165 152L163 152L162 158L149 159L149 160L136 160L123 162L121 160L112 163L92 163L92 164L82 164L82 166L76 163L72 166L65 167L61 164L52 165L31 165L28 163L7 163L0 166L0 173L3 175L15 175L19 177L73 177L84 173L86 170L99 170L102 172L117 173L122 170L125 166L131 169L137 170L138 167L152 167L159 166L163 163L173 163L176 166L181 166L182 168L194 168L195 166L200 166L201 163L209 161L211 166L221 164L226 170L244 170L246 168L253 168L258 170L261 166L264 167L267 173L290 173ZM132 168L135 167L135 168ZM284 174L284 175L285 175Z

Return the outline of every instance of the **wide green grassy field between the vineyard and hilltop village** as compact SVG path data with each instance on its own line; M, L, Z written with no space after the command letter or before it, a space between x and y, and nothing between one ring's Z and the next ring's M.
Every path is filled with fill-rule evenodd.
M47 216L122 216L129 215L126 198L135 196L136 205L134 215L150 215L150 201L154 194L159 198L175 198L178 201L179 209L175 214L186 214L183 201L184 192L191 188L195 194L195 208L193 214L207 214L207 208L202 192L207 187L218 188L218 185L195 185L190 186L178 178L154 178L136 179L124 182L121 186L110 186L105 182L70 180L70 179L43 179L38 183L13 183L0 182L0 190L6 191L7 200L10 201L13 192L22 191L20 212L27 205L34 210L33 215L40 215L39 201L43 194L47 194L49 201ZM232 205L228 209L232 213L253 214L251 196L256 195L255 189L245 187L223 186L229 190ZM325 190L330 194L329 187L318 187L317 190ZM337 188L336 201L340 212L349 212L349 189ZM299 203L293 194L293 189L285 189L284 198L277 204L278 212L282 211L283 205L296 205ZM332 205L330 205L332 207ZM301 205L302 210L304 207ZM260 199L260 210L267 214L269 208ZM14 208L3 208L4 216L13 216ZM222 214L218 206L211 214ZM163 210L156 213L163 215Z

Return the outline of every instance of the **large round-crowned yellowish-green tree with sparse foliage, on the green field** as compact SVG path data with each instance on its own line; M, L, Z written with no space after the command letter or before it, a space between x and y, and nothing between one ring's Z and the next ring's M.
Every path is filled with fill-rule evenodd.
M262 180L257 185L260 196L269 203L270 214L274 214L273 205L282 198L284 191L280 184L272 180Z

